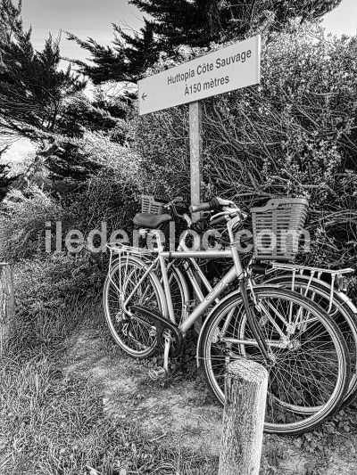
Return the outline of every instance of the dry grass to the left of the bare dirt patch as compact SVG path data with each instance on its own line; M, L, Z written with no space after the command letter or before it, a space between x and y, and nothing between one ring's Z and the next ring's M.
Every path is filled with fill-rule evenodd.
M40 315L32 335L0 359L0 473L216 473L217 461L180 446L168 450L132 423L109 420L100 389L63 375L64 329L68 334L75 322L93 322L97 308L96 303L74 305L68 314L57 315L55 325ZM27 341L29 348L30 337L33 344L26 349L23 344Z

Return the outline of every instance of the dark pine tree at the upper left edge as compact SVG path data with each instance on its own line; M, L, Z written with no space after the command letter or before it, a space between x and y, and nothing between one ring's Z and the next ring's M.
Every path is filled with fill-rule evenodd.
M93 106L81 94L86 81L71 66L61 69L60 37L46 40L43 51L31 44L31 29L23 29L21 2L0 0L0 137L11 143L18 137L37 143L37 156L28 170L8 182L2 168L1 185L22 189L38 168L53 170L58 178L85 179L97 166L72 138L86 130L116 127L108 111ZM4 193L3 193L4 194ZM2 199L0 198L0 201Z

